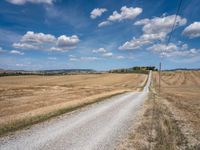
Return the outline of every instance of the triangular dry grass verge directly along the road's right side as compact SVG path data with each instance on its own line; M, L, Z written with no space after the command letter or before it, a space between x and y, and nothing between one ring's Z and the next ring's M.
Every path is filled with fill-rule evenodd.
M152 91L135 122L128 137L119 144L118 150L189 149L188 141L169 108Z

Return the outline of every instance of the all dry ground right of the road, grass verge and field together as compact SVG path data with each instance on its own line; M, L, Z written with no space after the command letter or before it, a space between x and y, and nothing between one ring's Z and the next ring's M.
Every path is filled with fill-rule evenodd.
M153 83L154 92L118 149L200 149L200 72L163 72L160 95L157 72Z

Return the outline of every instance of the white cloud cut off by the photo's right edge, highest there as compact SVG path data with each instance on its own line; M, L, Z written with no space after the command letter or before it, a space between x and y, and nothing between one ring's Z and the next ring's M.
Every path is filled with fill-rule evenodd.
M200 22L194 22L190 24L183 30L182 33L183 35L186 35L189 38L200 37Z

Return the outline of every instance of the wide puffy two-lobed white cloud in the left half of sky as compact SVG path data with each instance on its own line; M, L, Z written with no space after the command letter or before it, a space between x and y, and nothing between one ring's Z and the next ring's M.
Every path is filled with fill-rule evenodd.
M17 49L38 49L49 51L68 51L76 47L80 41L77 35L61 35L58 38L51 34L28 31L19 42L13 43Z

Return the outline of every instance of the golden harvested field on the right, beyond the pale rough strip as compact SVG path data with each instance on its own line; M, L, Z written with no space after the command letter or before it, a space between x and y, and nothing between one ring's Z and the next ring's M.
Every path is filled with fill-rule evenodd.
M158 85L158 80L155 81ZM200 71L164 72L161 87L161 97L178 109L200 133Z

